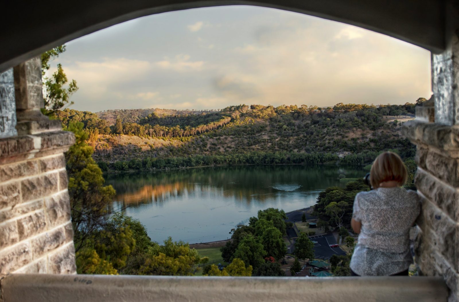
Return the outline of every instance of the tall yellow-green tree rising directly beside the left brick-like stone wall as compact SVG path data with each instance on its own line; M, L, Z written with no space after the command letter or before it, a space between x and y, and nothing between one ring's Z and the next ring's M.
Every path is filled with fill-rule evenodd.
M70 123L64 129L72 131L76 141L65 153L75 251L84 246L93 232L105 226L107 205L115 196L111 185L104 186L102 171L92 158L93 148L85 142L88 135L83 126Z

